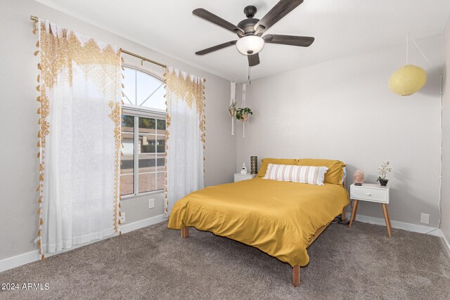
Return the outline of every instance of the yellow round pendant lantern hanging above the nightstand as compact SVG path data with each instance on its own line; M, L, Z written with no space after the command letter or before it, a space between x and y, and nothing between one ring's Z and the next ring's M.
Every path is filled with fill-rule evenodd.
M400 96L409 96L425 86L427 73L421 67L405 65L389 79L389 89Z

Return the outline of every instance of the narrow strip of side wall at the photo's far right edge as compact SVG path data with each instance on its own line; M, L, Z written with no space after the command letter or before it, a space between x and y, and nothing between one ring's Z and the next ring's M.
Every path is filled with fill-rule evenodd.
M444 30L444 98L442 145L442 234L450 242L450 22Z

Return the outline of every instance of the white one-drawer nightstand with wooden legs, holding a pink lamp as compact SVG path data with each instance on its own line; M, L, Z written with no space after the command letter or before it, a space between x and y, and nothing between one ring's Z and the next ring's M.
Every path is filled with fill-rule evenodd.
M373 183L363 183L363 185L350 185L350 199L353 200L352 216L350 216L349 228L352 228L352 223L356 219L356 211L358 211L359 201L377 202L381 203L383 214L385 215L387 235L391 236L391 220L389 218L389 211L387 205L389 204L389 187L381 186Z

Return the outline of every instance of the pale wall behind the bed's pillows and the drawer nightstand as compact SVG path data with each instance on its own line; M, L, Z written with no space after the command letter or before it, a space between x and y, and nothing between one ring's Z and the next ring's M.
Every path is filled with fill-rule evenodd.
M440 70L442 37L418 44ZM387 84L405 64L405 44L253 81L248 101L254 115L247 138L238 132L236 168L250 164L250 155L340 159L348 166L348 184L356 169L375 183L378 166L388 159L392 220L418 224L424 212L437 226L440 77L414 46L409 49L410 63L427 71L428 83L405 98ZM358 212L383 217L379 204L364 202Z

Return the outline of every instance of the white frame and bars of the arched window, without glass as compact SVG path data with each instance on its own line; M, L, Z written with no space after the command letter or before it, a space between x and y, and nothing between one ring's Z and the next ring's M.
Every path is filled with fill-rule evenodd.
M143 72L155 79L158 79L164 84L164 76L162 74L158 74L156 72L151 72L150 70L143 69L141 67L136 67L134 65L128 65L122 63L123 67L128 67L129 69L136 70L137 72ZM134 193L129 195L120 195L121 200L129 200L139 197L144 197L146 195L155 195L164 193L164 188L161 190L152 190L149 192L139 193L139 117L152 118L152 119L164 119L167 121L167 111L166 110L158 110L156 108L143 107L140 105L132 105L124 102L122 104L122 115L130 115L134 117L134 152L133 152L133 160L134 160L134 178L133 178L133 191ZM158 121L157 121L158 122ZM167 129L166 129L167 130ZM157 152L155 152L157 154ZM137 158L137 159L136 159ZM155 172L155 181L157 180L158 172Z

